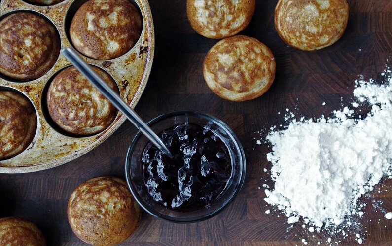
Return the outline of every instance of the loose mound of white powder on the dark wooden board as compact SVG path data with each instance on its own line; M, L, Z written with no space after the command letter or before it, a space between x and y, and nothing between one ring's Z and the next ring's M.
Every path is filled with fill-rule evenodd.
M391 74L391 71L387 71ZM273 190L265 200L284 210L288 222L299 217L311 225L339 225L358 213L357 200L381 178L391 175L392 78L383 85L356 81L358 103L372 106L365 119L349 119L345 107L332 119L291 121L283 131L271 131Z

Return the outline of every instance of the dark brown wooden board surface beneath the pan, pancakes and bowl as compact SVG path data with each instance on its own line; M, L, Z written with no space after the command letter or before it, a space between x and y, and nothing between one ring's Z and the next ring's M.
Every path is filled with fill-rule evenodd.
M255 15L241 34L257 38L271 48L276 58L276 78L271 89L247 102L219 98L207 87L202 63L218 41L195 33L186 18L185 0L149 0L155 25L156 49L151 75L135 110L149 120L180 109L197 110L227 123L243 144L247 158L244 186L237 198L219 215L207 221L175 224L143 213L134 234L122 245L309 245L357 244L355 233L310 233L303 222L287 224L263 198L262 184L269 180L267 144L257 145L273 125L286 124L286 108L306 118L331 116L348 105L359 75L377 78L392 55L392 1L348 0L350 16L343 37L320 51L304 52L288 47L274 28L277 0L256 0ZM326 103L323 106L323 102ZM136 134L124 123L103 144L78 159L48 170L26 174L0 174L0 217L19 216L43 231L48 245L84 245L71 231L67 202L83 181L102 175L125 178L128 145ZM269 183L273 184L273 183ZM261 187L261 188L260 188ZM365 214L355 232L364 245L392 245L392 182L384 179L363 198ZM271 209L270 214L265 211ZM278 216L279 215L279 216ZM351 233L351 234L350 234Z

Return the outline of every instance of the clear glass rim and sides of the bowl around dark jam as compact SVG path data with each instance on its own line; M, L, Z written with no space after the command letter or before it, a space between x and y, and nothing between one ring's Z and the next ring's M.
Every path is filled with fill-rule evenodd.
M149 214L172 222L197 222L217 215L238 194L245 179L245 154L241 143L233 131L219 119L206 114L194 111L176 111L160 115L148 122L148 125L157 134L180 124L196 124L211 130L214 132L214 135L223 141L228 149L231 162L231 175L223 191L220 192L216 199L205 207L189 211L168 208L155 201L144 184L141 159L143 150L149 140L141 132L135 136L129 146L125 160L125 175L134 198Z

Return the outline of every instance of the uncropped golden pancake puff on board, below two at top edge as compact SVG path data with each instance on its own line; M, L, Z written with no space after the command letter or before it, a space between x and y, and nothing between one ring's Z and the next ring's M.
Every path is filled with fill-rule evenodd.
M207 53L203 75L208 87L231 101L254 99L271 87L276 62L257 39L237 35L220 40Z

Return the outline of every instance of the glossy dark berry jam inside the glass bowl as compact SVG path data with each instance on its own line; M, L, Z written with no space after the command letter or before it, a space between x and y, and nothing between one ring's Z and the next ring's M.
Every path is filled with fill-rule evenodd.
M176 211L208 207L231 176L229 150L208 128L180 124L160 134L173 158L149 142L142 156L143 182L153 199Z

